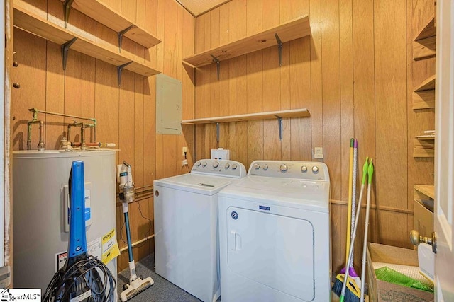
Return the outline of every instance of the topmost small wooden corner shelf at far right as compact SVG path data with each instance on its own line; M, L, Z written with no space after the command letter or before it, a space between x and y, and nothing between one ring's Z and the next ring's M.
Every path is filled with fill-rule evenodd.
M435 15L428 21L413 40L413 59L428 59L435 57L436 25Z

